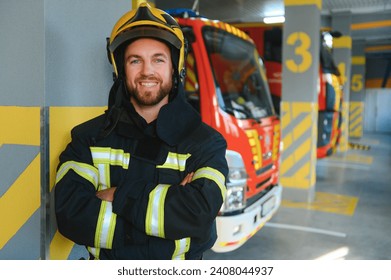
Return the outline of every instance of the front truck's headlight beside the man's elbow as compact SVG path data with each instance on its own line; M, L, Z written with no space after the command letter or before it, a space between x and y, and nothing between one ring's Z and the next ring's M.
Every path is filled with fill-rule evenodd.
M227 151L228 180L226 199L221 207L222 213L241 210L246 207L247 173L242 156Z

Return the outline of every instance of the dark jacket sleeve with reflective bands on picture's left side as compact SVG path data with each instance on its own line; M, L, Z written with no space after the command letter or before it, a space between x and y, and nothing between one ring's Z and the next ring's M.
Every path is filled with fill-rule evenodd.
M92 163L89 137L81 131L72 130L72 141L60 155L54 189L58 230L77 244L111 249L124 243L125 224L112 212L111 202L95 195L99 172Z

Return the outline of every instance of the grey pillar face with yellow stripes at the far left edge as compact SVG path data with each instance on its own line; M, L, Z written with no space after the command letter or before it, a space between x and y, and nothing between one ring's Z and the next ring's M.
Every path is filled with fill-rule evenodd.
M44 1L0 4L0 259L39 259Z

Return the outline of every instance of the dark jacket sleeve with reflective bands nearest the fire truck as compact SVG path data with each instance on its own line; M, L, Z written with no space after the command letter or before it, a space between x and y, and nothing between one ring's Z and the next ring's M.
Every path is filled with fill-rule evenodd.
M141 197L131 199L117 189L113 209L146 234L179 240L187 237L205 241L225 198L226 141L217 133L205 137L192 151L186 167L193 171L185 186L145 182ZM186 174L185 174L186 175ZM135 182L143 184L143 182ZM124 199L126 197L126 200Z

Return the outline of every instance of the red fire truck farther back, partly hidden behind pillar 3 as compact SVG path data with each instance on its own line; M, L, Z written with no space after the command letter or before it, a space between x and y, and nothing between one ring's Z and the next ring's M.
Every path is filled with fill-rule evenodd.
M282 92L282 27L259 23L236 24L255 42L265 59L267 79L273 105L279 114ZM318 142L317 157L333 154L341 134L342 81L329 48L321 36L318 76Z

